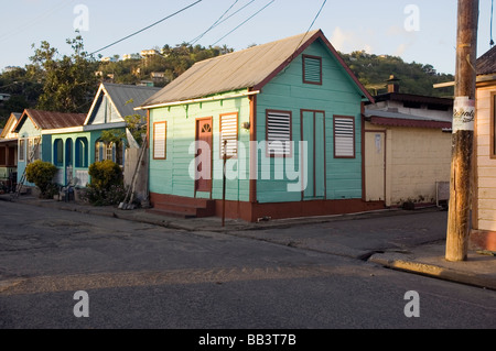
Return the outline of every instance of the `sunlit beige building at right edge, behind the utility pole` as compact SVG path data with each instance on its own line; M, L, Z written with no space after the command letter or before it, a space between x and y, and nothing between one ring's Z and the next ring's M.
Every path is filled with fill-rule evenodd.
M496 47L477 59L471 242L496 251Z

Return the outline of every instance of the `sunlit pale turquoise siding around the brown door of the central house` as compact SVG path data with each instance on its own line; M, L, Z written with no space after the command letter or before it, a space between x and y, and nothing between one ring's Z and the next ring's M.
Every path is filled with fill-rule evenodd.
M233 94L240 91L233 91ZM249 98L236 98L228 100L191 103L152 109L150 111L149 125L157 122L166 122L166 160L153 160L150 157L150 191L184 197L205 197L222 199L223 197L223 160L220 158L220 116L225 113L238 113L238 140L246 145L246 157L238 154L237 158L227 161L227 169L230 174L237 174L226 184L226 198L228 200L249 200L249 131L241 128L244 122L249 122ZM195 120L198 118L213 118L213 187L208 193L195 194L195 180L190 175L195 155L190 154L195 142ZM150 131L152 133L152 131ZM150 141L150 154L153 155L153 140ZM244 162L241 167L236 164ZM245 172L242 172L246 169Z

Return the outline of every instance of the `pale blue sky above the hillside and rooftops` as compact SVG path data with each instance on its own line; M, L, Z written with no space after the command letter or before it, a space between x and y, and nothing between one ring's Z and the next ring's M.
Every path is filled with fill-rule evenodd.
M342 53L393 55L407 63L430 64L438 73L455 73L456 0L326 0L323 4L324 0L4 1L0 70L24 67L34 53L32 45L39 47L42 41L69 55L66 40L76 36L75 29L87 52L106 57L184 42L239 51L311 28L321 29ZM490 48L490 12L492 0L479 0L477 56Z

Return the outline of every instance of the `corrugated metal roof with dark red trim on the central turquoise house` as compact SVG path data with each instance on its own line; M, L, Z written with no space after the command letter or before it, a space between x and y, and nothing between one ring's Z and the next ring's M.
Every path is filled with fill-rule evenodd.
M320 30L294 35L277 42L246 48L194 64L183 75L174 79L161 91L148 99L143 107L168 102L203 98L215 94L254 88L280 72L316 39L336 56L355 84L369 99L366 89L359 84L337 52Z

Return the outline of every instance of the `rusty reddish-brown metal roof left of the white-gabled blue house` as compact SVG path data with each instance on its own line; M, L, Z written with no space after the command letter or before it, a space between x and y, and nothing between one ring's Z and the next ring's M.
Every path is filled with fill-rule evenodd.
M15 125L15 132L19 132L26 118L30 118L36 128L41 130L51 130L83 125L86 113L62 113L26 109Z

